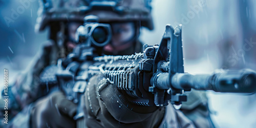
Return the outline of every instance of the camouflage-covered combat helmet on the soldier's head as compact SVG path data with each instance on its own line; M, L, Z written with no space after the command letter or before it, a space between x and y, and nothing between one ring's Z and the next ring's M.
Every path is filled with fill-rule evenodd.
M84 16L96 15L100 23L140 21L153 30L151 0L40 0L35 31L51 22L83 22Z

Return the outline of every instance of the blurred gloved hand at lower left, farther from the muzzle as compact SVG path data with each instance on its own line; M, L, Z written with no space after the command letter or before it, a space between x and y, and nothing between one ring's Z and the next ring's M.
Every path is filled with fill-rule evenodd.
M39 99L31 112L31 127L76 127L73 117L77 105L61 91L52 92Z

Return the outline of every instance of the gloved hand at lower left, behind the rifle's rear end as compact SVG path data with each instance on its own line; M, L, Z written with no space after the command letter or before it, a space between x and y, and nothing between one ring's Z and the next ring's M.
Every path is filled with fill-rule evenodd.
M54 92L35 103L31 112L32 127L75 127L73 118L61 113L58 97L61 93Z

